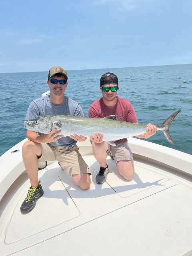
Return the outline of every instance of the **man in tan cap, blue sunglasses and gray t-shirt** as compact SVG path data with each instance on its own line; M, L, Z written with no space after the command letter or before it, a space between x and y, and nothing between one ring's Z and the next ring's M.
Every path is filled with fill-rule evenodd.
M50 95L31 102L26 120L58 114L84 116L80 105L64 94L68 85L67 80L66 70L58 66L50 68L47 80ZM77 134L64 137L60 132L53 129L49 134L38 134L27 130L28 141L24 143L22 153L31 186L21 205L22 213L30 212L35 207L36 200L43 195L42 186L38 181L38 162L56 160L77 186L83 190L90 187L91 171L76 145L77 141L84 141L86 137Z

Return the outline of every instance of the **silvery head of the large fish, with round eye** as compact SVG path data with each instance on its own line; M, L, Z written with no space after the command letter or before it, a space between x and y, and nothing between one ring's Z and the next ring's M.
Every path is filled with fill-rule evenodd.
M54 116L40 116L32 120L24 120L24 128L34 132L49 134L54 128L60 130L62 124L60 120Z

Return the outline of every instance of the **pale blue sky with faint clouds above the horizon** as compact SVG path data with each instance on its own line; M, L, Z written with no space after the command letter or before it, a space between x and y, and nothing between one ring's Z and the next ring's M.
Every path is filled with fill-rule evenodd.
M192 0L0 0L0 73L192 63Z

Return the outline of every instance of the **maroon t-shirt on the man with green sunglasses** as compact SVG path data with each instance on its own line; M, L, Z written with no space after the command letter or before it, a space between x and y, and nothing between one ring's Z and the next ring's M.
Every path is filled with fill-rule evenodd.
M113 108L106 106L103 98L100 98L94 101L88 110L88 116L90 118L104 118L110 115L116 115L114 119L128 123L136 123L138 121L132 104L121 97L117 97L117 103ZM127 139L123 138L115 141L115 144L126 141Z

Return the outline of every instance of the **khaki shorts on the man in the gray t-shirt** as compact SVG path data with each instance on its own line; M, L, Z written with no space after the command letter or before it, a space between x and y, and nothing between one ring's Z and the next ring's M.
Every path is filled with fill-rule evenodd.
M66 148L40 143L40 146L42 156L38 159L39 162L56 160L71 178L73 174L87 173L91 175L91 170L79 153L77 145L73 148Z

